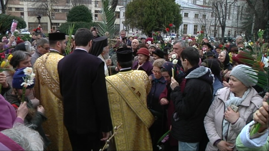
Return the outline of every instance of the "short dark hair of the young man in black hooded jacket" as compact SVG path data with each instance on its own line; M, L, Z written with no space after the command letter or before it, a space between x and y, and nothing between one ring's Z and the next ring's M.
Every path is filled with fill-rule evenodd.
M195 47L186 47L182 50L181 58L188 60L192 66L197 66L200 61L199 51Z

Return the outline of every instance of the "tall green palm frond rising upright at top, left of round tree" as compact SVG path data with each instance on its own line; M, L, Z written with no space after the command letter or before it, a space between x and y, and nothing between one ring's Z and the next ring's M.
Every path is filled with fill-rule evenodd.
M108 37L108 43L111 43L110 39L114 38L114 33L117 31L115 28L115 8L112 8L112 1L102 0L102 21L98 23L98 31L101 36Z

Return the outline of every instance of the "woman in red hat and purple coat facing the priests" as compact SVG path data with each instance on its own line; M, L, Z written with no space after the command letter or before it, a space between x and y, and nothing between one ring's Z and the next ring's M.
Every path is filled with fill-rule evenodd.
M134 62L133 70L143 70L147 75L152 74L152 64L149 62L149 50L146 48L140 48L137 51L137 61Z

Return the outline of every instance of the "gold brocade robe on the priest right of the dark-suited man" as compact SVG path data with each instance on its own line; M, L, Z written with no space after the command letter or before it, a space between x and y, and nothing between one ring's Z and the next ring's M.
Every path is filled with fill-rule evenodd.
M151 82L141 70L119 72L106 77L111 119L123 125L114 137L116 150L152 150L149 127L154 122L147 108Z

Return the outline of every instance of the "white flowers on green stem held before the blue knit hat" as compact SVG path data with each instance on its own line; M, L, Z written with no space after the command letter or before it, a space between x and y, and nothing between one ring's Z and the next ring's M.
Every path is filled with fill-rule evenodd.
M25 98L25 90L27 88L27 86L30 86L32 84L34 84L34 79L35 79L35 74L33 73L33 68L31 67L26 67L23 70L24 74L26 75L25 78L23 78L23 82L21 84L21 86L23 86L22 88L22 102L24 102L24 98Z

